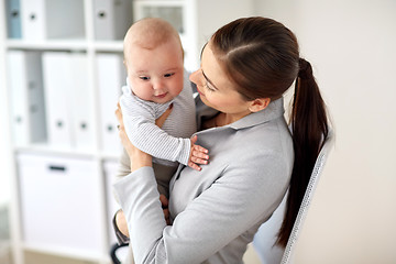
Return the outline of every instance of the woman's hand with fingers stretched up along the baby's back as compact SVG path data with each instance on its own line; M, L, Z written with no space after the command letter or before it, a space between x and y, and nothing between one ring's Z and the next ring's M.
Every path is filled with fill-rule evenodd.
M142 152L138 147L135 147L131 141L128 139L125 128L122 121L122 111L120 103L118 103L118 108L116 110L116 117L120 123L119 125L119 135L121 139L121 143L125 148L130 160L131 160L131 172L134 172L141 167L153 166L152 156Z

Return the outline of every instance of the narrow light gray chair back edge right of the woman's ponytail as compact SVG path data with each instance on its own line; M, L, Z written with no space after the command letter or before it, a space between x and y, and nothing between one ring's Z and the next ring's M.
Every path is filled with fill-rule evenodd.
M317 185L318 185L318 182L319 182L319 177L323 170L323 167L324 167L324 164L326 164L326 161L328 158L328 155L330 153L330 150L333 145L333 133L332 131L330 130L329 131L329 134L328 134L328 138L324 142L324 145L323 147L321 148L318 157L317 157L317 161L315 163L315 166L314 166L314 169L312 169L312 174L311 174L311 177L309 179L309 183L308 183L308 186L307 186L307 190L304 195L304 198L302 198L302 202L301 202L301 206L298 210L298 215L297 215L297 218L296 218L296 221L293 226L293 229L292 229L292 233L290 233L290 237L287 241L287 245L286 245L286 249L285 249L285 252L283 254L283 257L282 257L282 264L286 264L286 263L290 263L292 261L292 256L293 256L293 253L294 253L294 249L295 249L295 244L296 244L296 241L298 239L298 235L300 233L300 229L302 227L302 223L307 217L307 212L308 212L308 207L310 205L310 201L312 199L312 196L314 196L314 193L317 188Z

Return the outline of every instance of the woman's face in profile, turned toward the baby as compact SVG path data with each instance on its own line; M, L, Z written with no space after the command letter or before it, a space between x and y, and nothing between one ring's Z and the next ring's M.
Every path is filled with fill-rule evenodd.
M199 96L208 107L237 118L251 113L249 101L235 90L235 85L216 59L210 42L202 51L201 67L189 79L197 85Z

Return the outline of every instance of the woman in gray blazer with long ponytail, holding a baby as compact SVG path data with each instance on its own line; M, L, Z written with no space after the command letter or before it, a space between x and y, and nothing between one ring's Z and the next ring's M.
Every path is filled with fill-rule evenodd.
M295 35L265 18L233 21L202 50L190 76L197 103L197 144L209 150L201 172L179 166L170 183L167 226L152 157L120 136L131 174L114 185L136 263L242 263L246 244L289 188L278 243L285 245L322 139L324 105ZM290 114L283 94L296 80ZM202 105L202 102L205 105Z

